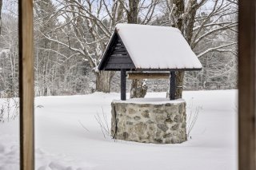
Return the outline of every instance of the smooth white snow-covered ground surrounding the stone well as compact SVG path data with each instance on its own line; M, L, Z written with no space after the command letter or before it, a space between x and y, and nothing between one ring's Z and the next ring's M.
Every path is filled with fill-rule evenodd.
M165 97L149 93L147 97ZM95 119L110 125L118 93L35 99L37 170L230 170L237 169L237 90L190 91L187 105L202 106L182 144L111 140ZM0 124L0 170L18 169L18 119Z

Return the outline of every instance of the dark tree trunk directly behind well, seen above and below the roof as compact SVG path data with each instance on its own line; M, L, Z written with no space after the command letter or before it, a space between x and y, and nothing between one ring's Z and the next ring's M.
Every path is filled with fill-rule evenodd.
M138 4L139 0L129 0L130 11L127 13L128 23L138 23ZM134 79L130 86L130 98L143 98L146 95L146 80Z

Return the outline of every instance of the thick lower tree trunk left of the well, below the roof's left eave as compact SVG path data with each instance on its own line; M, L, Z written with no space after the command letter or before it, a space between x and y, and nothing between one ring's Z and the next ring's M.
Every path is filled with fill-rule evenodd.
M95 72L96 76L96 91L110 93L110 82L114 76L112 71L99 71Z

